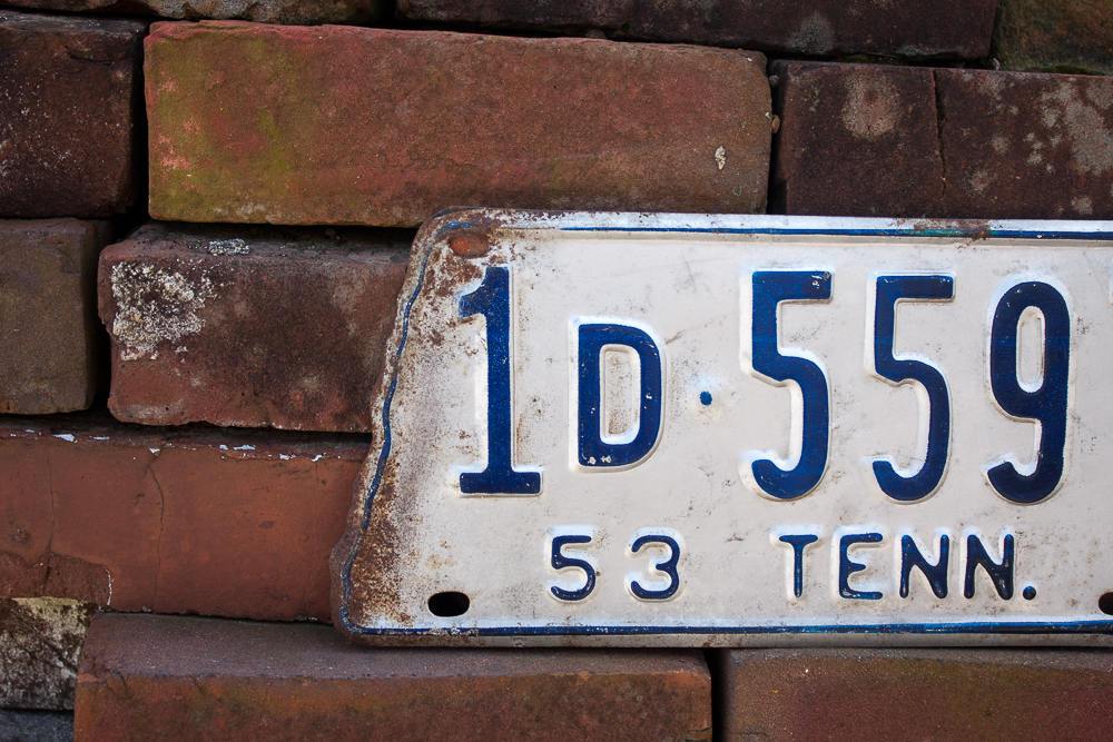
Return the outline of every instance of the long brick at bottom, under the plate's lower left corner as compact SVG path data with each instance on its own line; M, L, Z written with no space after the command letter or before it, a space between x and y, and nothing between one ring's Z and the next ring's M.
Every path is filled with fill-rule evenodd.
M99 615L75 724L90 740L703 740L687 652L359 650L323 626Z

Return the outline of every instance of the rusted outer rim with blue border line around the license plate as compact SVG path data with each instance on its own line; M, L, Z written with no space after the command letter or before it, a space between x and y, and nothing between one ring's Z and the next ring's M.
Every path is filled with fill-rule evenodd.
M449 244L463 257L482 255L496 233L545 229L580 233L721 234L781 236L866 236L955 238L971 241L993 238L1046 240L1111 240L1113 221L1097 220L948 220L878 219L857 217L790 217L680 214L553 212L496 209L447 210L418 230L411 251L406 280L398 296L383 377L373 403L373 441L356 482L347 528L332 553L334 624L351 640L376 645L484 644L520 646L925 646L946 636L947 645L1111 645L1113 620L1107 621L973 621L940 624L836 624L807 626L652 626L552 625L443 629L429 626L365 626L349 617L352 568L376 512L376 494L392 456L391 404L398 383L398 367L406 346L411 311L425 284L430 257Z

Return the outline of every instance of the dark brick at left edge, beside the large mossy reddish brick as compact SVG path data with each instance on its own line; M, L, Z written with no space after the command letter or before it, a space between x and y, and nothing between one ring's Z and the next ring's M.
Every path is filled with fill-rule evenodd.
M144 29L0 10L0 217L132 205Z

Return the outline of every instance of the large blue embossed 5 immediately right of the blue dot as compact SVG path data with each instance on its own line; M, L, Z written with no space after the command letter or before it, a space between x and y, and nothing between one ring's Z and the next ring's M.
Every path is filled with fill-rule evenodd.
M758 486L778 499L800 497L819 484L827 468L830 437L827 377L815 362L780 354L777 347L778 306L781 301L821 301L830 296L831 275L826 271L759 270L754 274L754 370L777 382L796 382L804 398L799 462L787 469L768 458L751 464Z

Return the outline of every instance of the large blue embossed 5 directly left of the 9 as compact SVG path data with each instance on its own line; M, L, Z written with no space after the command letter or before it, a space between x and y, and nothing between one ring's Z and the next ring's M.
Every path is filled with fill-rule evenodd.
M896 308L900 300L939 301L954 297L955 281L951 276L881 276L877 279L877 301L874 308L874 368L878 375L900 384L918 382L927 392L929 404L927 454L919 471L904 476L892 461L874 462L877 484L889 497L910 503L932 494L947 467L951 442L951 397L947 382L939 370L922 360L896 358L893 334Z

